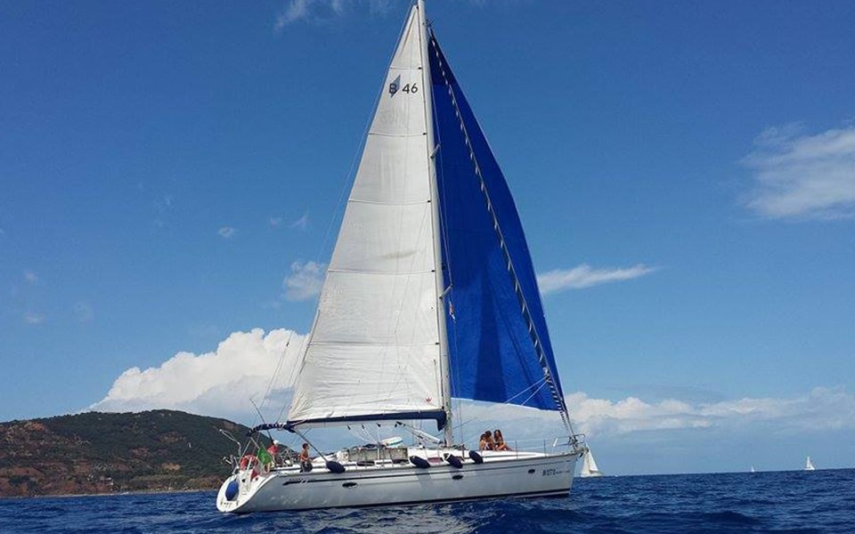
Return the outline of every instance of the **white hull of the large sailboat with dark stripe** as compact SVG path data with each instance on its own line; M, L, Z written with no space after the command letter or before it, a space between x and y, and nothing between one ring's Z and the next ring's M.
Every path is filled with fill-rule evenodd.
M239 472L224 481L216 506L221 512L244 514L482 498L566 497L573 485L577 458L572 452L486 452L483 464L467 458L460 468L431 462L428 468L409 463L368 467L347 464L345 473L330 473L322 466L310 473L299 473L296 468L277 469L240 484L240 492L230 500L226 498L230 482L248 478L246 472Z

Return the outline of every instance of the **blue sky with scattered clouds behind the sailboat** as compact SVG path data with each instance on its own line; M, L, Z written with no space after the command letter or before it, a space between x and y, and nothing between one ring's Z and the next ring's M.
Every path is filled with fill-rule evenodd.
M0 421L282 417L406 12L0 0ZM855 467L855 4L428 18L599 467ZM473 436L549 425L465 413Z

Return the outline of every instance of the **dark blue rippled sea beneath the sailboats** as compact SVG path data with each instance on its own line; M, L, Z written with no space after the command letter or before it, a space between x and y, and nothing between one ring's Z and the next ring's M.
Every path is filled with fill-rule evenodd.
M855 469L576 479L569 498L224 515L214 491L0 499L0 533L855 532Z

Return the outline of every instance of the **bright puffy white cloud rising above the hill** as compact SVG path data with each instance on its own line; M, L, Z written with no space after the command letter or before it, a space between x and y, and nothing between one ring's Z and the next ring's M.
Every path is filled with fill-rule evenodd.
M180 409L251 419L250 399L276 399L291 386L304 341L284 328L235 332L215 352L178 352L158 367L127 369L89 409ZM281 408L272 407L276 413Z

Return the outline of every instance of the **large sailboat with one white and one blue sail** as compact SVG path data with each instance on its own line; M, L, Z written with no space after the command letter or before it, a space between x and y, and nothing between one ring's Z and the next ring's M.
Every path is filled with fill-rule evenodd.
M307 339L287 420L253 429L220 511L568 495L585 445L517 208L423 0L383 79ZM454 436L452 398L551 410L566 433L535 449L472 450ZM378 425L412 444L323 453L306 433ZM271 430L297 434L314 458L270 462L252 436Z

